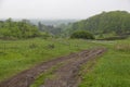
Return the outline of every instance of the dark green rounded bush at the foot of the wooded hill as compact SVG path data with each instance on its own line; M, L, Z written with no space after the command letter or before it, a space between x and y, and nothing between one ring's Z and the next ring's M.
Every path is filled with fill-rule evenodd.
M77 30L72 34L70 38L94 39L94 36L86 30Z

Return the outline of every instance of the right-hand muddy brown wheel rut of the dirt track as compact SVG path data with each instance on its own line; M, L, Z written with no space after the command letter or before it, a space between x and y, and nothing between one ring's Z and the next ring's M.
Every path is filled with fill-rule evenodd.
M93 59L105 52L105 49L93 49L89 52L83 52L79 59L73 60L68 64L60 67L55 72L55 78L47 79L41 87L78 87L78 73L80 66L88 60Z

